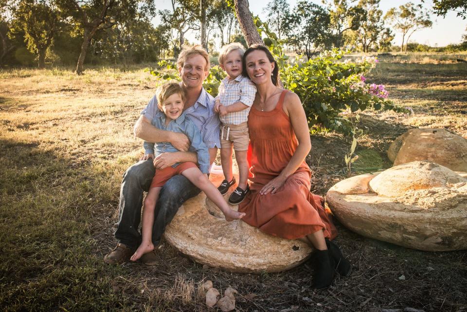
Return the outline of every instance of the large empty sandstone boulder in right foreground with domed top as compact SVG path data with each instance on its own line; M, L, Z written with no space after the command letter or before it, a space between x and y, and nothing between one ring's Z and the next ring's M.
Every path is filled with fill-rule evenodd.
M363 236L426 250L467 249L467 173L427 161L343 180L326 201Z

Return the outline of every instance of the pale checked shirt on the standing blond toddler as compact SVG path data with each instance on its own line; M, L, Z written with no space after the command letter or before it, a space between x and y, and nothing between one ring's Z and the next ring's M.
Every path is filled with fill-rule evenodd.
M225 77L220 82L219 94L216 96L216 99L219 99L220 104L224 106L229 106L240 101L248 106L248 108L230 112L220 117L220 121L222 121L224 125L240 125L246 122L255 95L256 86L249 78L238 75L235 79L230 80L229 77Z

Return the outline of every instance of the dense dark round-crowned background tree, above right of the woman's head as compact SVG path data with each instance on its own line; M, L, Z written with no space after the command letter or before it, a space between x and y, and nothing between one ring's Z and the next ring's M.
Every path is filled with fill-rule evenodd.
M330 16L323 7L301 0L292 11L284 20L284 33L295 52L310 58L331 47Z

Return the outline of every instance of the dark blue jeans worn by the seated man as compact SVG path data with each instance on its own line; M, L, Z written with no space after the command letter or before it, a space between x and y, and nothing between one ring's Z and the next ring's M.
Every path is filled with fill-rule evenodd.
M131 248L136 248L141 243L139 226L143 192L149 190L154 172L153 162L149 159L132 165L123 175L115 238ZM154 246L161 241L165 227L172 221L183 202L198 195L199 192L201 190L182 175L173 176L162 186L154 211L152 228Z

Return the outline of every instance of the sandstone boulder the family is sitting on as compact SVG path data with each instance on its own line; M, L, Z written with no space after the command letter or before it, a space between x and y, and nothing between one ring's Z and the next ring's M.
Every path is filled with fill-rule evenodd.
M222 171L212 172L210 180L220 184ZM238 206L232 208L237 210ZM164 237L202 264L240 273L284 271L305 261L311 252L300 240L264 234L241 220L227 222L202 192L180 207Z

